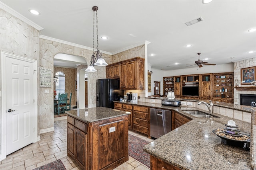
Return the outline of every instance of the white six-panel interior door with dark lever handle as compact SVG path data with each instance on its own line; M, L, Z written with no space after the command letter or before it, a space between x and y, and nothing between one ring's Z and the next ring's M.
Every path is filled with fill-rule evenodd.
M34 64L6 57L6 155L34 142Z

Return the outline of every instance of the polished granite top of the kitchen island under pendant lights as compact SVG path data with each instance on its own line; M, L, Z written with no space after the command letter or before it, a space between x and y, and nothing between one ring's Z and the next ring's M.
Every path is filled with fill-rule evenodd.
M131 114L128 111L120 111L120 110L111 109L107 107L77 109L77 110L65 111L65 113L85 123L91 123L94 121L100 121L100 120L110 119L113 117L120 117L123 115Z

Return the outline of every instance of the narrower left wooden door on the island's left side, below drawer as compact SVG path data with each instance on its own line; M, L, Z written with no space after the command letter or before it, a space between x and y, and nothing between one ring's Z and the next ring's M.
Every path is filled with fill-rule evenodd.
M67 128L67 136L68 136L68 156L71 156L72 158L75 158L75 127L70 125L68 123L68 128Z

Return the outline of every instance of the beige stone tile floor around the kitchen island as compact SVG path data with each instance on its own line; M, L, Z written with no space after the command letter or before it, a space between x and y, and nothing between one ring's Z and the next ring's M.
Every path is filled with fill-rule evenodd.
M40 135L41 140L30 144L12 154L0 162L0 170L32 170L44 164L60 159L67 170L81 170L71 157L67 156L67 121L66 117L54 118L54 131ZM146 136L133 131L130 134L140 137L146 141L153 141ZM114 170L149 170L129 156L129 160Z

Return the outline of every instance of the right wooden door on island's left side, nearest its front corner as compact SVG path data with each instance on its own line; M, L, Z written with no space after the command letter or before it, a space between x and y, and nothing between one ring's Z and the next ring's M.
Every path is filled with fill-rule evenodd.
M75 129L75 151L76 162L83 168L86 168L87 135L79 129Z

